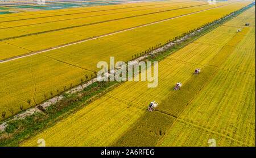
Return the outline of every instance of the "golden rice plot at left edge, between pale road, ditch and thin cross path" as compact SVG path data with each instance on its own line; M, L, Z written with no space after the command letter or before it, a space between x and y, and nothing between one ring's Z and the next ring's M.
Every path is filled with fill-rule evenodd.
M64 86L69 89L71 84L80 84L81 78L86 80L86 75L88 80L92 78L91 74L95 76L88 70L41 55L30 56L27 60L15 60L11 65L3 63L0 73L1 119L63 92Z

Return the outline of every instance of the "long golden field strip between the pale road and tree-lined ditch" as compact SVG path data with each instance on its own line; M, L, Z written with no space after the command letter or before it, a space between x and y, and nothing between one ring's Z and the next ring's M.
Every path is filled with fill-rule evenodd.
M247 3L242 4L245 6ZM81 80L85 81L85 75L91 77L93 75L92 72L97 70L96 65L98 61L109 61L110 56L114 56L115 61L129 61L135 55L140 56L142 53L148 51L148 48L152 49L151 47L154 48L159 43L163 45L167 40L173 40L176 36L201 27L202 24L219 19L243 6L235 3L203 13L183 16L150 26L105 36L104 38L69 45L68 47L44 52L41 55L24 57L3 63L1 64L3 68L1 69L1 74L3 75L0 77L0 85L3 85L0 89L0 92L3 94L1 95L0 101L3 104L0 105L0 111L1 113L5 113L5 117L1 119L27 109L35 105L35 103L40 103L52 95L58 94L57 91L63 92L64 87L69 88L71 84L75 86ZM193 22L195 20L197 20L197 23ZM59 35L64 36L63 34ZM32 36L28 36L26 38L31 38L30 40L25 40L24 38L20 38L20 41L13 39L15 41L11 44L19 45L19 47L24 46L29 50L36 51L37 47L44 49L47 44L57 44L55 41L64 42L66 39L69 41L72 40L69 38L54 40L51 35L48 35L48 37L51 40L39 37L35 40ZM80 36L73 35L73 38L77 40L80 39ZM30 45L30 43L34 43L36 46ZM48 45L47 47L51 46ZM21 48L20 50L24 52L24 49ZM21 54L20 52L17 53L19 55ZM55 66L57 65L56 63L59 65ZM69 72L65 70L67 68L75 70ZM91 70L92 72L88 72L87 70ZM31 75L31 72L34 76ZM7 80L6 78L11 79ZM40 78L40 82L33 81L33 78ZM67 78L69 79L68 81ZM13 98L10 99L10 96ZM24 105L18 104L20 100L23 100ZM20 108L19 106L23 107Z

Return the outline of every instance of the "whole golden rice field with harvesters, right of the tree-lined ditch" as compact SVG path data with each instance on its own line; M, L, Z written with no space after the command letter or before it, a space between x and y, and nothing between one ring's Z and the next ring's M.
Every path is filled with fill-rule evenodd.
M160 61L156 88L125 82L20 145L255 146L255 26L232 25L255 19L254 10ZM183 88L174 92L177 81ZM147 113L152 100L159 108Z

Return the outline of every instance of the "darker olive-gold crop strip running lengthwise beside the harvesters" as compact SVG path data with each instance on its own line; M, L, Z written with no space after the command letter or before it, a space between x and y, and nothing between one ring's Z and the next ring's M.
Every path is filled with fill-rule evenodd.
M202 72L200 73L200 75L192 76L191 78L189 78L189 80L187 80L183 84L183 88L181 88L182 90L180 90L178 92L171 93L166 98L164 98L161 101L161 104L158 107L157 111L155 111L155 112L161 113L163 116L166 116L166 117L172 117L171 120L176 120L176 119L177 119L177 121L180 120L179 115L181 114L181 112L186 108L188 103L190 103L193 100L193 98L197 97L197 94L201 91L201 89L204 88L205 85L208 84L208 82L210 82L211 80L214 80L214 74L216 74L218 72L218 66L225 63L225 60L232 53L234 46L239 41L242 40L242 38L245 36L247 31L248 31L248 29L244 28L240 32L241 34L236 34L235 32L233 32L232 39L227 41L226 44L224 45L224 47L221 48L221 46L220 46L221 50L218 51L218 53L214 57L212 57L211 60L209 60L207 65L204 65L203 68L201 68ZM212 35L213 34L207 34L205 36L206 37L208 36L208 38L209 38ZM226 36L229 36L229 35L230 34L226 34ZM216 36L218 36L218 34L216 34ZM240 39L240 40L238 40L238 39ZM197 43L197 42L195 42L195 43ZM231 46L230 44L233 44L233 45ZM192 45L191 47L193 47L193 43L189 44L189 45ZM189 45L187 47L189 47ZM189 49L189 50L196 51L197 52L196 55L200 56L200 52L198 52L196 49ZM181 49L181 52L182 51L186 51L186 47ZM180 55L179 52L180 51L176 52L175 55ZM192 53L192 55L193 55L193 53ZM172 55L170 57L172 57ZM183 59L183 58L181 57L181 59ZM185 58L183 60L184 60L184 62L187 62L185 60ZM191 59L191 61L193 61L193 59ZM253 77L251 77L251 78L253 78ZM216 80L216 81L218 81L218 80ZM254 77L254 81L255 81L255 77ZM255 84L252 87L252 89L253 88L255 89ZM217 92L218 91L216 90L216 93ZM232 94L232 92L233 91L230 91L229 93ZM223 95L220 95L220 97L222 97L222 96ZM201 96L201 98L204 99L205 97ZM207 99L207 101L212 101L212 99ZM253 102L255 104L255 101L253 101ZM216 105L216 102L214 102L213 104ZM194 116L193 113L191 113L191 115ZM198 115L200 115L200 114L198 114ZM209 113L207 113L207 115L209 115ZM184 115L184 118L187 118L186 115ZM215 117L213 117L213 118L215 118ZM144 122L145 119L147 120L147 122L150 122L150 125L148 125L147 123ZM151 114L143 115L143 117L132 128L130 128L130 130L127 131L120 139L118 139L117 142L115 142L113 145L114 146L154 146L154 145L156 145L156 143L158 143L158 141L168 131L168 128L171 127L172 123L166 122L166 124L164 124L164 126L158 127L158 122L155 122L154 119L155 119L154 117L151 117ZM200 120L205 121L204 119L200 119ZM200 125L200 124L198 124L198 125ZM144 128L144 127L146 127L146 128ZM152 129L154 129L154 130L152 130ZM152 131L159 131L159 133L161 133L161 134L159 134L158 136L155 136L155 137L152 137L152 136L148 137L148 135L150 135L150 133ZM133 133L136 133L136 135L134 135ZM174 138L173 135L170 139L172 139L172 138ZM195 139L195 141L196 141L196 139ZM170 142L170 143L172 143L172 142ZM179 145L183 145L183 144L179 144Z

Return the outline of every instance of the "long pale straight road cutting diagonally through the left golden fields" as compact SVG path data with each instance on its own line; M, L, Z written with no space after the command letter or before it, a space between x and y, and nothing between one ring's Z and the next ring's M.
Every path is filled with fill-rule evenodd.
M233 2L233 3L238 3L238 2L240 2L240 1ZM226 4L226 5L231 5L231 4L233 4L233 3L229 3L229 4ZM222 5L222 6L226 6L226 5ZM149 25L151 25L151 24L160 23L160 22L165 22L165 21L167 21L167 20L176 19L176 18L180 18L180 17L183 17L183 16L187 16L187 15L191 15L191 14L200 13L200 12L207 11L207 10L211 10L211 9L216 9L216 8L222 7L222 6L212 7L212 8L210 8L210 9L205 9L205 10L201 10L201 11L196 11L196 12L193 12L193 13L188 13L188 14L184 14L184 15L180 15L180 16L175 16L175 17L173 17L173 18L168 18L168 19L159 20L159 21L156 21L156 22L148 23L148 24L143 24L143 25L141 25L141 26L136 26L136 27L127 28L126 30L121 30L121 31L112 32L112 33L106 34L106 35L96 36L96 37L94 37L94 38L89 38L89 39L85 39L85 40L81 40L81 41L76 41L75 43L64 44L64 45L61 45L61 46L59 46L59 47L54 47L54 48L46 49L46 50L44 50L44 51L32 52L32 53L28 53L28 54L21 55L21 56L19 56L19 57L13 57L13 58L10 58L10 59L3 59L3 60L0 60L0 64L6 63L6 62L12 61L12 60L20 59L20 58L23 58L23 57L31 56L31 55L36 55L36 54L39 54L39 53L52 51L52 50L54 50L54 49L59 49L59 48L67 47L67 46L69 46L69 45L74 45L74 44L78 44L78 43L83 43L83 42L85 42L85 41L89 41L89 40L93 40L93 39L98 39L98 38L102 38L102 37L109 36L109 35L118 34L118 33L120 33L120 32L125 32L125 31L129 31L129 30L134 30L135 28L144 27L144 26L149 26Z

